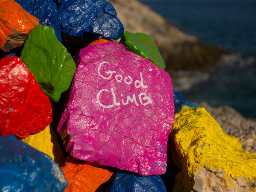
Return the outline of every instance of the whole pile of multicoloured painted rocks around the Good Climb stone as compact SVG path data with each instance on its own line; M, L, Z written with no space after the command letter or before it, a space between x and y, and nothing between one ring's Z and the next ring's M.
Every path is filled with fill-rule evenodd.
M150 36L55 3L0 0L2 191L256 190L256 154L173 91Z

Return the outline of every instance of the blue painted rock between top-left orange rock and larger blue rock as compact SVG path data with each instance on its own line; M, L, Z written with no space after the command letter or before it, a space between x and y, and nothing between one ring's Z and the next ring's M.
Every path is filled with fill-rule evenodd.
M50 26L55 30L58 40L61 42L61 20L58 8L53 0L15 0L31 15L37 17L41 25Z

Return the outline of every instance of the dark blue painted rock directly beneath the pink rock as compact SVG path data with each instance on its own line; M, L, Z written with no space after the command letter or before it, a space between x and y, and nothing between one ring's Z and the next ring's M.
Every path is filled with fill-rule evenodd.
M116 177L107 192L166 192L166 186L159 175L136 176L134 174L116 173Z

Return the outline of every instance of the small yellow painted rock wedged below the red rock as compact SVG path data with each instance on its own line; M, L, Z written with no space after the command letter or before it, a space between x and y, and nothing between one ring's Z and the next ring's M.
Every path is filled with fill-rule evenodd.
M24 143L29 144L31 147L36 148L49 157L51 157L59 166L65 165L65 157L61 151L57 136L52 128L48 125L44 131L38 134L29 135L26 139L22 140ZM44 145L42 145L44 143Z

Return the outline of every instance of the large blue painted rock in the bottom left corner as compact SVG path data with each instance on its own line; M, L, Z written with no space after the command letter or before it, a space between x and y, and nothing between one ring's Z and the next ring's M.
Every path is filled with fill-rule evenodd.
M0 189L2 191L63 192L67 181L48 155L17 140L0 136Z

